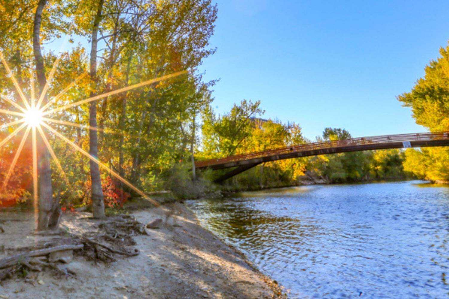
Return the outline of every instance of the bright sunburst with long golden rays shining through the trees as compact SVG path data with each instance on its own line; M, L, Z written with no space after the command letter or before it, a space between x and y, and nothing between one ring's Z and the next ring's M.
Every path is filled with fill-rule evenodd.
M123 182L125 185L127 185L129 188L131 188L132 190L136 191L136 193L138 193L139 195L141 195L143 198L149 200L152 204L154 204L155 206L159 206L159 204L154 201L153 199L151 199L150 197L148 197L143 191L141 191L139 188L137 188L136 186L132 185L130 182L128 182L125 178L123 178L122 176L119 175L119 173L115 172L114 170L110 169L109 167L107 167L104 163L102 163L100 160L98 160L96 157L90 155L88 152L86 152L83 148L79 147L77 144L75 144L74 142L70 141L70 139L66 138L63 134L61 134L60 132L58 132L56 129L54 129L53 127L49 126L47 124L47 122L51 122L51 123L56 123L56 124L60 124L60 125L65 125L65 126L75 126L75 127L81 127L81 128L86 128L89 130L100 130L96 127L91 127L91 126L83 126L77 123L73 123L73 122L69 122L69 121L62 121L62 120L57 120L57 119L53 119L53 118L49 118L46 117L52 113L58 112L58 111L62 111L62 110L66 110L68 108L71 107L75 107L81 104L86 104L92 101L96 101L96 100L100 100L100 99L104 99L110 95L115 95L121 92L125 92L125 91L129 91L132 89L136 89L139 87L144 87L150 84L153 84L155 82L160 82L163 80L167 80L170 78L174 78L176 76L179 76L181 74L185 74L187 71L180 71L180 72L176 72L173 74L169 74L169 75L165 75L159 78L154 78L151 80L147 80L141 83L137 83L128 87L123 87L114 91L109 91L107 93L101 94L101 95L96 95L84 100L80 100L80 101L76 101L74 103L71 104L66 104L60 107L56 107L56 108L52 108L50 109L51 105L56 103L57 100L59 98L61 98L63 95L66 94L67 91L69 91L72 87L74 87L76 85L76 83L82 79L84 76L87 75L87 73L84 73L82 75L80 75L78 78L76 78L73 82L71 82L66 88L64 88L58 95L50 98L48 100L48 103L43 104L43 100L45 97L45 93L48 90L49 87L49 83L52 81L53 76L56 72L56 68L57 68L57 64L60 61L60 59L57 59L55 61L55 63L53 64L53 67L49 73L48 76L48 81L47 84L45 85L43 91L40 93L39 98L35 99L35 89L34 89L34 81L33 81L33 75L31 74L31 82L30 82L30 94L31 97L30 99L27 99L26 96L24 95L22 89L19 87L17 80L14 78L13 73L11 71L11 69L9 68L9 65L7 63L7 61L5 60L3 53L0 51L0 60L2 61L4 68L6 69L7 74L9 75L9 78L12 80L13 85L20 97L20 99L22 100L22 105L18 104L17 102L10 100L8 98L2 98L2 100L8 102L9 104L11 104L12 106L14 106L15 108L17 108L20 112L17 111L12 111L12 110L5 110L5 109L0 109L0 113L2 114L7 114L10 116L14 116L14 117L18 117L19 119L16 121L11 121L9 123L4 123L2 125L2 127L10 127L10 126L15 126L15 125L19 125L15 130L13 130L12 133L10 133L5 139L3 139L2 141L0 141L0 147L4 146L4 144L8 143L15 135L17 135L20 131L22 131L25 128L25 131L23 133L21 142L18 146L18 150L14 155L13 161L9 167L8 173L6 174L4 181L3 181L3 190L7 187L8 185L8 181L9 178L11 177L11 174L13 172L13 169L17 163L17 160L20 156L20 153L22 152L22 148L24 147L28 136L30 134L31 131L31 143L32 143L32 159L33 159L33 164L32 164L32 173L33 173L33 200L34 200L34 207L35 207L35 211L37 212L37 202L38 202L38 161L37 161L37 157L38 157L38 150L40 147L37 147L37 139L36 139L36 131L40 134L45 146L48 149L48 152L50 153L50 155L52 156L58 171L62 174L62 177L66 180L66 182L68 182L67 180L67 176L66 173L64 172L64 170L62 169L61 163L59 162L59 160L57 159L57 156L55 154L55 152L53 151L52 147L50 146L50 143L48 142L47 137L45 136L44 130L43 128L45 128L46 130L48 130L48 132L51 132L52 134L54 134L55 136L57 136L58 138L62 139L63 141L65 141L67 144L69 144L71 147L73 147L76 151L80 152L81 154L83 154L84 156L88 157L90 160L92 160L93 162L97 163L97 165L99 165L102 169L106 170L108 173L110 173L110 175L112 175L113 177L117 178L120 182ZM37 103L36 103L37 100ZM42 107L41 107L42 106ZM116 132L114 130L104 130L105 132L109 132L109 133L120 133L120 132Z

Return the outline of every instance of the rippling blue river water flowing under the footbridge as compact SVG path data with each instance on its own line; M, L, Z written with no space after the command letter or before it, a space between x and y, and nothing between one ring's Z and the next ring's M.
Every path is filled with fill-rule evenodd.
M447 186L302 186L187 204L290 298L449 298Z

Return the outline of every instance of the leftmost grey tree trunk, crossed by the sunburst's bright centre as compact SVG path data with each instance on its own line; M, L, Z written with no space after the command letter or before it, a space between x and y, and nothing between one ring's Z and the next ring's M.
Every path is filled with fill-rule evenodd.
M33 26L33 52L36 62L36 74L39 83L39 90L44 90L47 78L45 77L44 58L40 52L40 24L42 22L42 11L47 0L39 0L37 5L34 26ZM47 95L44 97L43 104L47 103ZM61 208L59 200L53 200L52 188L52 170L50 168L50 153L41 138L38 140L39 149L39 220L38 230L47 230L59 225L61 218Z

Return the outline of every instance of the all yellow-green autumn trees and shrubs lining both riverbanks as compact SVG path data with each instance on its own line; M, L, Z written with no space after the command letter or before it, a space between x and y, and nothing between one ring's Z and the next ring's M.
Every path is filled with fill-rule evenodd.
M239 174L223 186L212 183L220 171L192 171L194 160L312 141L302 135L296 123L264 120L260 101L242 100L223 115L213 111L211 94L216 81L205 82L198 67L215 52L208 42L214 33L216 16L217 7L210 0L18 0L14 4L0 0L0 34L4 37L0 50L18 85L30 95L33 73L48 75L59 55L47 44L68 36L70 47L60 55L61 63L48 86L48 97L75 83L55 104L187 70L186 74L168 81L59 112L62 121L72 121L81 127L58 124L58 131L81 148L97 148L94 156L145 192L171 190L176 197L186 199L220 191L310 182L404 178L449 181L447 147L274 161ZM40 36L37 43L33 39L36 35ZM82 39L88 40L88 47L79 43ZM41 56L37 55L40 49L44 51ZM441 56L426 67L425 77L418 80L412 91L398 96L398 100L412 108L416 122L431 131L449 130L448 53L449 48L442 48ZM18 99L6 76L0 78L0 92ZM0 105L9 108L3 101ZM89 132L85 126L93 120L99 130ZM1 115L0 121L6 123L12 117ZM0 130L4 138L12 129ZM316 139L350 136L347 130L326 128ZM92 198L104 199L106 209L117 208L136 195L106 171L89 168L84 156L62 140L53 135L48 138L68 179L61 179L61 173L53 171L53 180L45 183L51 185L49 190L53 192L48 200L60 204L63 210L90 206ZM19 146L18 138L12 141L0 149L2 179ZM25 147L8 188L1 194L3 206L31 202L30 160L31 148ZM104 213L93 212L94 217Z

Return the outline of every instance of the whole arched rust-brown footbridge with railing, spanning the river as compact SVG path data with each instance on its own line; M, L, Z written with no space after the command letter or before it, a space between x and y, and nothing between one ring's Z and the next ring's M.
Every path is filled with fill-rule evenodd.
M229 156L221 159L210 159L195 162L196 169L211 168L225 169L236 167L216 179L221 183L232 178L238 173L255 167L263 162L317 156L324 154L336 154L340 152L360 152L366 150L379 150L390 148L408 147L444 147L449 146L449 132L416 133L381 135L371 137L359 137L314 143L305 143L279 147L262 152L252 152L242 155Z

